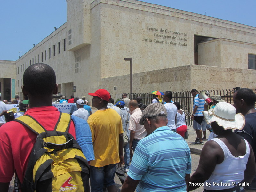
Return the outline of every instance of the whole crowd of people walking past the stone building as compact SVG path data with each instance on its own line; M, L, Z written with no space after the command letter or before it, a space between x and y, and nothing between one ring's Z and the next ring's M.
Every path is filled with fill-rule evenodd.
M28 185L32 191L51 188L51 191L116 192L115 174L123 185L122 192L185 192L200 186L204 186L205 192L256 190L256 95L248 88L234 93L234 106L220 95L210 97L212 103L208 104L199 98L196 89L191 90L195 145L204 144L192 176L190 149L184 140L187 115L180 103L172 101L171 91L165 91L162 96L153 95L152 103L145 106L141 97L130 100L126 93L115 103L106 89L98 89L88 93L93 97L92 107L96 112L92 113L85 96L82 99L72 96L68 101L65 97L61 100L61 103L72 103L70 113L63 115L52 106L52 95L58 92L55 72L42 63L25 70L22 91L26 98L18 102L20 111L7 121L6 104L0 101L0 189L3 192L8 191L14 173L15 190L23 192L28 191ZM66 126L67 133L58 131L61 126ZM204 143L206 130L210 136ZM52 169L58 171L42 171L40 177L30 168L30 158L37 154L34 144L41 145L37 144L41 134L53 135L56 142L63 140L64 135L68 139L64 144L54 144L45 136L39 151L50 148L42 154L51 157ZM59 164L59 157L68 156L65 151L72 151L71 148L76 148L76 155L69 157L72 161L64 165L66 160L63 160ZM81 166L77 170L73 158ZM90 171L86 171L87 163L82 166L84 159ZM36 161L36 164L40 163ZM59 171L63 167L66 167L65 174ZM34 174L31 178L38 179L38 183L28 179L29 170ZM75 170L81 174L75 173L75 177L71 173Z

